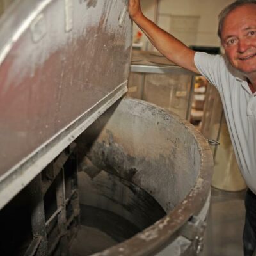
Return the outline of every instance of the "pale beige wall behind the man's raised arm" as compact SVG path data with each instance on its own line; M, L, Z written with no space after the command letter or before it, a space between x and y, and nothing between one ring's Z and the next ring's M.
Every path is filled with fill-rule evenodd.
M187 45L220 46L220 40L217 36L218 14L221 10L232 3L233 0L159 0L159 26L164 30L171 32L172 20L179 16L183 17L184 26L189 19L198 19L196 28L193 28L196 35L189 34L189 31L173 31ZM144 14L150 20L154 20L155 0L141 0L141 8ZM177 29L176 29L177 30ZM188 29L187 29L188 30ZM134 35L138 27L134 26ZM144 35L143 49L147 47L148 40ZM148 46L148 50L150 47Z

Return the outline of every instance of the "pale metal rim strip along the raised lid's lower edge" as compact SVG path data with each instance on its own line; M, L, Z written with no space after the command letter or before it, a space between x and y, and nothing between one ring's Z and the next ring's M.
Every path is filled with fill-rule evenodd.
M21 163L0 177L0 210L12 198L19 193L49 162L58 156L70 142L74 141L86 128L92 124L102 113L106 111L116 100L120 99L125 92L127 81L120 84L113 92L110 92L98 104L88 109L83 115L63 131L59 132L50 141L32 152Z

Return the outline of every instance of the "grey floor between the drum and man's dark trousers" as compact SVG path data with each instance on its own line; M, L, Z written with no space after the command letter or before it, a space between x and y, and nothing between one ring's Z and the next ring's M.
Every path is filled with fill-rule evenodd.
M212 188L201 256L243 256L245 193Z

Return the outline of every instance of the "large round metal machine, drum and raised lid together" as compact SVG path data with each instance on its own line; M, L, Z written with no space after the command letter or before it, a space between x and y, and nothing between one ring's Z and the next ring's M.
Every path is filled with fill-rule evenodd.
M0 17L0 254L196 255L212 156L124 97L127 0L16 0Z

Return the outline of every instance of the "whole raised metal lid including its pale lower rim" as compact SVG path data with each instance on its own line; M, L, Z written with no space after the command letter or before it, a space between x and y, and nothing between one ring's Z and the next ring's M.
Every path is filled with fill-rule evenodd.
M104 5L105 2L106 4ZM4 77L5 74L8 77L16 77L12 72L13 69L16 69L19 70L19 74L24 74L24 77L19 77L19 79L12 78L13 81L19 81L17 82L19 84L16 84L16 86L13 85L13 81L7 83L7 80L10 79L3 79L2 87L4 90L2 89L0 92L0 95L3 97L5 95L4 93L7 93L5 91L7 90L6 88L8 90L11 86L15 88L12 91L12 97L10 97L12 99L8 97L3 98L8 99L12 103L12 108L10 108L12 110L10 111L13 111L15 115L7 115L4 113L4 109L0 111L1 122L4 120L4 126L0 126L0 130L1 132L6 132L6 134L4 132L1 134L3 134L4 138L13 138L12 141L1 140L3 142L3 148L6 148L6 154L0 154L0 158L1 163L6 163L6 165L2 164L0 166L0 210L19 191L25 188L47 164L51 163L58 154L68 147L77 136L102 115L106 109L127 92L127 76L129 72L129 65L127 64L130 60L130 43L132 40L132 24L127 13L127 1L116 2L115 9L111 8L111 1L107 0L100 1L92 9L86 6L88 6L88 3L84 1L17 0L1 15L0 24L3 25L3 29L0 31L0 73L1 75L4 74ZM107 7L109 8L109 12ZM60 10L60 12L56 13L56 9ZM88 10L88 13L84 16L82 10ZM92 78L89 76L92 74L90 68L93 69L93 65L97 66L97 63L94 64L93 60L99 59L91 56L91 51L84 51L89 48L88 45L86 46L86 43L90 40L87 40L86 36L91 36L87 35L85 31L87 27L91 28L92 26L92 20L90 20L90 15L93 15L92 11L96 14L98 12L99 17L97 16L97 19L99 20L100 15L109 15L108 20L104 22L106 28L100 28L102 29L102 33L99 33L99 36L104 37L104 40L98 38L95 44L88 43L88 45L95 47L95 49L111 47L111 49L104 48L108 51L98 51L97 54L99 54L100 59L105 58L111 63L114 63L115 58L116 66L108 70L109 74L114 70L117 74L120 74L120 77L115 76L115 80L113 80L113 76L92 76ZM53 15L54 13L56 13L56 16ZM121 14L122 19L119 19L118 15ZM84 22L83 24L78 24L76 21L81 20L81 16L84 17ZM120 24L118 24L118 19L121 22ZM113 31L110 31L110 26L107 26L108 23L113 26L115 25L114 31L116 35L118 33L120 36L120 40L116 44L111 41L111 33ZM56 31L61 36L58 36L60 40L54 42L54 47L52 47L51 36ZM95 35L94 31L92 31L92 35ZM83 40L83 44L81 44L81 40ZM80 43L77 44L77 42ZM74 50L74 52L84 52L83 58L81 56L79 60L77 58L75 61L73 60L75 56L70 54L70 49L73 48L72 45L76 45L74 47L76 51ZM110 50L115 51L115 56L111 54ZM19 54L15 54L13 51L17 51ZM31 61L28 61L26 52L39 54L41 51L42 56L45 56L45 58L41 60L36 57L35 60L31 58ZM63 58L64 56L65 58ZM123 58L119 63L116 61L117 56L122 56ZM51 61L53 66L50 67L51 63L47 62L47 60L51 58L56 63L63 61L60 65L62 70L58 68L59 65L54 65L54 61ZM24 63L23 60L25 60ZM121 58L118 58L118 60L121 60ZM17 63L19 63L20 68L16 68L15 65ZM37 67L40 72L34 72L35 70L33 71L33 68L28 63L29 65L33 64L32 66ZM86 65L86 63L88 64ZM56 69L54 69L55 67ZM86 69L86 67L90 68ZM105 68L104 65L102 67ZM40 76L48 68L52 70L52 74L48 77L44 76L47 77L45 78L47 79L45 82L44 79L40 79ZM65 70L68 70L68 72ZM119 70L122 72L119 72ZM97 72L103 72L102 68L97 70ZM63 76L64 73L67 76ZM70 79L74 74L77 74L76 79ZM86 81L85 77L88 77L88 81ZM93 80L94 78L95 81ZM31 83L32 79L38 79L39 81L36 88L35 83ZM45 88L44 83L49 87L51 86L51 88L42 89ZM68 93L70 83L72 83L72 97ZM20 84L22 86L26 84L22 93L19 92L20 89L17 89L22 87ZM81 88L82 86L83 90ZM15 102L18 104L21 99L20 95L31 93L32 87L33 93L35 93L34 96L39 96L38 98L31 96L30 101L26 99L26 102L23 102L23 108L33 109L36 113L21 111L24 114L22 116L23 114L19 113L20 108L14 108ZM45 90L47 93L41 93L41 90ZM90 90L90 93L88 93L88 90ZM81 98L77 100L79 96ZM4 104L3 102L2 104ZM40 104L43 104L43 106ZM74 106L74 108L68 109L67 106ZM42 115L43 112L47 113L47 115ZM56 117L52 115L52 112L56 113ZM16 115L22 120L13 117ZM38 120L34 118L35 116L38 117ZM30 130L26 128L26 125L28 125L32 132L29 132ZM42 127L42 131L36 131L36 127L39 126ZM20 127L22 127L22 132L24 132L22 134L24 140L15 139L19 137ZM24 148L26 150L22 150L25 143L27 147ZM12 155L16 158L12 157ZM6 159L6 156L8 157L8 161L4 161L4 157Z

